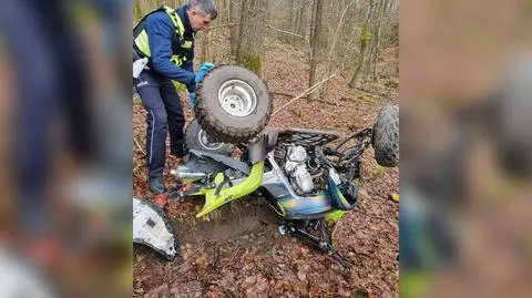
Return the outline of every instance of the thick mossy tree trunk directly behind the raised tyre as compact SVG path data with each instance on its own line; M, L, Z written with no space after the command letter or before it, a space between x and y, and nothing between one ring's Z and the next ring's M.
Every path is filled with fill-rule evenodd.
M263 73L264 37L268 0L244 0L236 63L257 75Z

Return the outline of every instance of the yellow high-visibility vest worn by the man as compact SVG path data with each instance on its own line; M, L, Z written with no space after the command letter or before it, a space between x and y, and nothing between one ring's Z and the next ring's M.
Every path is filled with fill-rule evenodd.
M177 66L183 65L185 63L187 55L191 54L192 44L194 42L194 35L192 35L192 40L185 40L185 27L183 25L183 21L181 20L177 12L170 8L170 7L161 7L154 11L151 11L146 16L142 18L142 20L135 25L133 29L133 44L144 56L151 58L152 53L150 51L150 38L145 30L144 20L151 16L152 13L164 11L172 20L175 27L175 35L172 40L172 52L173 55L171 61L176 64Z

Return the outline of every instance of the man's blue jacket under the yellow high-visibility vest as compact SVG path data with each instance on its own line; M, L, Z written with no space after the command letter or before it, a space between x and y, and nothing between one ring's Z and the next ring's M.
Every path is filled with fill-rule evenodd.
M192 30L186 8L182 7L177 10L183 25L185 28L185 38L192 39L194 31ZM181 68L175 65L170 59L173 54L172 42L174 38L178 38L175 33L175 27L172 23L168 14L164 11L154 12L144 20L144 29L150 39L151 66L154 71L163 74L166 78L176 80L188 86L188 90L194 89L195 73L193 69L194 60L194 44L186 54L186 63ZM193 90L192 90L193 91Z

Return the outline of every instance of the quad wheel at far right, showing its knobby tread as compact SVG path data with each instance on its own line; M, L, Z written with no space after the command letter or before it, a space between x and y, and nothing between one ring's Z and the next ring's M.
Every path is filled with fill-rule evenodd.
M371 144L379 165L393 167L399 164L399 106L387 105L380 111Z

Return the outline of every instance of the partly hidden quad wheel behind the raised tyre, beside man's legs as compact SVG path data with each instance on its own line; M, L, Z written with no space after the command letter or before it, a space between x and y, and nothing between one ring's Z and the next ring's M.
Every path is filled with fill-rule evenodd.
M234 150L232 144L218 143L200 126L194 120L185 130L185 153L188 150L201 150L209 153L217 153L229 156Z

